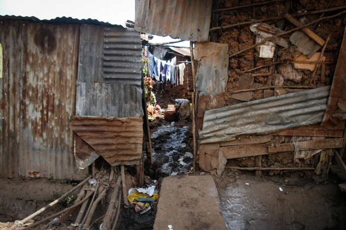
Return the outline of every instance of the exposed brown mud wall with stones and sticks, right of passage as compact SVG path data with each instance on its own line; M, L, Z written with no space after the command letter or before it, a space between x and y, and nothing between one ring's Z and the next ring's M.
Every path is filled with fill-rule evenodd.
M263 2L264 0L220 0L219 5L214 4L213 10L237 7L241 5L248 5L252 3ZM335 8L345 6L344 0L327 1L327 0L316 0L314 2L308 0L300 1L277 1L271 2L269 4L262 4L257 6L250 6L244 8L238 8L235 10L227 10L221 12L214 12L212 16L212 28L222 27L221 29L212 31L211 41L219 43L228 43L229 49L229 67L228 67L228 80L226 89L224 92L224 106L230 106L235 104L240 104L248 101L255 101L262 98L282 95L286 93L297 92L301 90L307 90L311 88L322 87L325 85L331 85L333 80L333 74L335 71L336 62L338 59L339 49L344 35L345 28L345 14L336 16L330 19L322 20L320 22L313 23L309 26L309 29L315 33L315 35L320 38L327 40L330 35L329 41L325 47L323 64L320 62L315 69L316 62L319 58L319 53L323 49L323 46L318 48L314 65L308 64L313 59L307 60L302 59L302 50L306 50L304 43L302 41L305 38L304 34L299 34L298 37L301 39L296 41L296 45L290 40L290 36L294 33L288 33L283 36L283 40L286 40L286 47L278 44L270 47L270 52L273 57L265 58L260 46L250 48L244 52L237 54L239 51L250 47L258 43L259 37L257 33L250 29L251 23L238 25L243 22L251 22L254 20L265 19L259 23L267 24L273 31L271 34L278 34L284 31L290 31L297 26L293 25L286 19L282 19L285 13L293 15L302 24L307 24L313 22L320 17L329 17L340 13L342 10L333 10L330 12L321 13L308 13L310 11L323 10L328 8ZM233 25L233 26L232 26ZM260 24L263 25L263 24ZM266 26L266 25L263 25ZM228 28L227 28L228 27ZM275 29L274 29L275 28ZM279 31L280 29L280 31ZM276 33L275 33L276 30ZM259 37L259 38L257 38ZM264 39L264 38L262 38ZM268 43L264 43L266 45ZM269 45L269 46L270 46ZM303 47L302 47L303 46ZM313 51L311 49L307 50ZM269 53L270 53L269 52ZM316 52L316 51L315 51ZM236 55L234 55L236 54ZM300 57L299 57L300 56ZM305 55L307 56L307 55ZM316 58L315 57L315 58ZM301 61L301 63L300 63ZM276 63L276 64L273 64ZM301 66L297 65L301 64ZM302 67L303 65L303 67ZM308 69L308 68L309 69ZM287 86L287 88L285 88ZM265 89L258 89L263 88ZM250 90L252 89L252 90ZM248 90L246 92L239 93L239 90ZM338 136L327 137L328 135L311 134L310 136L305 132L302 136L297 136L301 131L279 134L273 133L270 135L270 139L266 142L259 142L266 145L266 148L277 147L284 143L292 143L294 141L302 140L318 140L325 138L340 138L345 129L345 122L340 121L338 128ZM337 125L337 126L338 126ZM302 124L303 126L303 124ZM334 127L321 127L319 124L309 127L310 130L329 130L333 129L333 133L337 132ZM311 132L312 133L312 132ZM324 132L327 133L327 132ZM245 141L239 141L240 146L246 147L248 145L241 143L251 143L255 142L251 139L254 137L259 137L259 135L252 136L239 136L238 139ZM333 140L332 140L333 141ZM256 143L256 144L259 144ZM201 145L199 149L199 162L202 169L212 170L217 168L217 163L213 165L213 154L215 154L216 144L211 145ZM236 144L232 144L236 145ZM221 144L217 144L218 148L221 148ZM225 146L225 145L223 145ZM251 149L256 152L256 148ZM214 151L214 152L213 152ZM311 151L313 152L313 151ZM297 157L294 151L273 153L273 154L261 154L261 156L245 156L231 159L228 158L228 163L231 166L237 167L313 167L318 166L319 162L325 163L330 160L330 156L333 155L331 149L323 149L318 153L305 154L304 157ZM201 155L202 153L202 155ZM246 154L245 154L246 155ZM247 154L249 155L249 154ZM255 155L255 153L254 153ZM201 159L203 157L203 159ZM216 157L216 156L214 156ZM324 157L324 159L322 159ZM207 159L208 158L208 159ZM257 162L255 162L257 158ZM217 160L216 160L217 161ZM204 164L204 165L203 165ZM220 157L218 157L218 164L221 164ZM318 166L320 167L320 165ZM326 167L323 166L323 169ZM317 168L317 173L319 173L320 168ZM322 170L323 171L323 170ZM270 171L269 173L274 173L275 171Z

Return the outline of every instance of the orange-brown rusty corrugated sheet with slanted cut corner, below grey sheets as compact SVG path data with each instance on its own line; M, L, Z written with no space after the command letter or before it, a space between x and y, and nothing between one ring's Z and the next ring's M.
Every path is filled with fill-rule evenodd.
M139 164L143 117L74 116L70 127L112 166Z

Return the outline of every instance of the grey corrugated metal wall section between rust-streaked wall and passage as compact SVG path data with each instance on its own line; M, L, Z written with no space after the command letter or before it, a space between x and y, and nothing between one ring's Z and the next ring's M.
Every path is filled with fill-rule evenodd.
M104 45L108 38L112 40L109 46ZM104 52L107 53L105 57ZM106 66L115 70L112 75L104 75L105 60ZM138 32L81 25L78 66L76 115L118 118L142 115L141 41Z

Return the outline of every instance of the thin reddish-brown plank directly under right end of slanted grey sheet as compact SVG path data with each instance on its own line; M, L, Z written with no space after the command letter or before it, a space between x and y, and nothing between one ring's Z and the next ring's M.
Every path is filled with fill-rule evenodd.
M343 130L287 129L273 133L277 136L343 137Z

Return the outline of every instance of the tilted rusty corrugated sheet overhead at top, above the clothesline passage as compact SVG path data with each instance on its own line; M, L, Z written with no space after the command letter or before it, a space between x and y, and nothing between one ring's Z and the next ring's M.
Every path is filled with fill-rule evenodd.
M182 40L207 41L212 0L136 0L136 31Z

